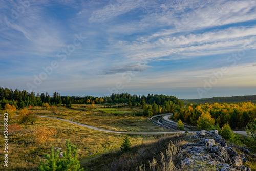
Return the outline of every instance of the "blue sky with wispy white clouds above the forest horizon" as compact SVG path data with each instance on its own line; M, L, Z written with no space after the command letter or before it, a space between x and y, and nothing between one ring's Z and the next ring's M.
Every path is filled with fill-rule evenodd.
M256 94L256 0L13 0L0 2L0 18L0 87Z

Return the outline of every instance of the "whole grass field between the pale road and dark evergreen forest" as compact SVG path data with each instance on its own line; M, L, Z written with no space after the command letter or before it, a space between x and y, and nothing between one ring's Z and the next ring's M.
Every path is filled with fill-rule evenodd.
M167 129L159 127L144 116L134 116L135 112L142 112L140 107L133 106L107 106L95 105L91 108L89 104L73 104L72 108L58 107L56 114L49 109L34 107L32 110L37 115L52 116L62 119L99 127L102 129L125 132L166 132Z

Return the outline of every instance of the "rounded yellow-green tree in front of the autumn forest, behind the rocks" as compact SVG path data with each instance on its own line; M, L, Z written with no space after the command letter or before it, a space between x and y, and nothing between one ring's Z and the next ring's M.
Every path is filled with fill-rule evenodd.
M201 114L201 116L197 121L197 126L198 126L198 129L209 130L212 126L214 126L214 122L215 122L214 119L211 118L210 113L207 111Z

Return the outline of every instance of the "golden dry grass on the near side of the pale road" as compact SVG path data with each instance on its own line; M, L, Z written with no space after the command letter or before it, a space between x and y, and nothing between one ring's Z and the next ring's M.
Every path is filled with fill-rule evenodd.
M67 116L69 117L69 115ZM14 121L11 121L9 124L12 122ZM3 116L0 116L0 130L3 130L3 123ZM70 142L77 146L79 160L88 160L112 149L119 149L124 137L121 134L91 130L65 121L40 118L34 125L22 124L23 131L9 137L9 170L37 170L37 166L44 158L44 154L50 152L49 149L46 149L46 144L35 144L32 131L35 131L37 126L47 126L58 131L54 137L55 140L51 142L51 145L54 145L54 147L65 149L65 140L70 139ZM152 135L133 135L131 142L133 145L136 145L152 141L156 137ZM3 149L2 141L3 139L1 139L0 148ZM2 169L3 165L0 166L0 170Z

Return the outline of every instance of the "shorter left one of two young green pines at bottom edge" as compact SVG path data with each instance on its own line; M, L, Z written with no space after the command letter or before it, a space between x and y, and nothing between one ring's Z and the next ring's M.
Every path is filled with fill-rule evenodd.
M46 163L41 162L39 165L39 170L41 171L60 171L61 163L59 160L59 150L54 154L53 146L51 147L51 154L45 154L47 159Z

